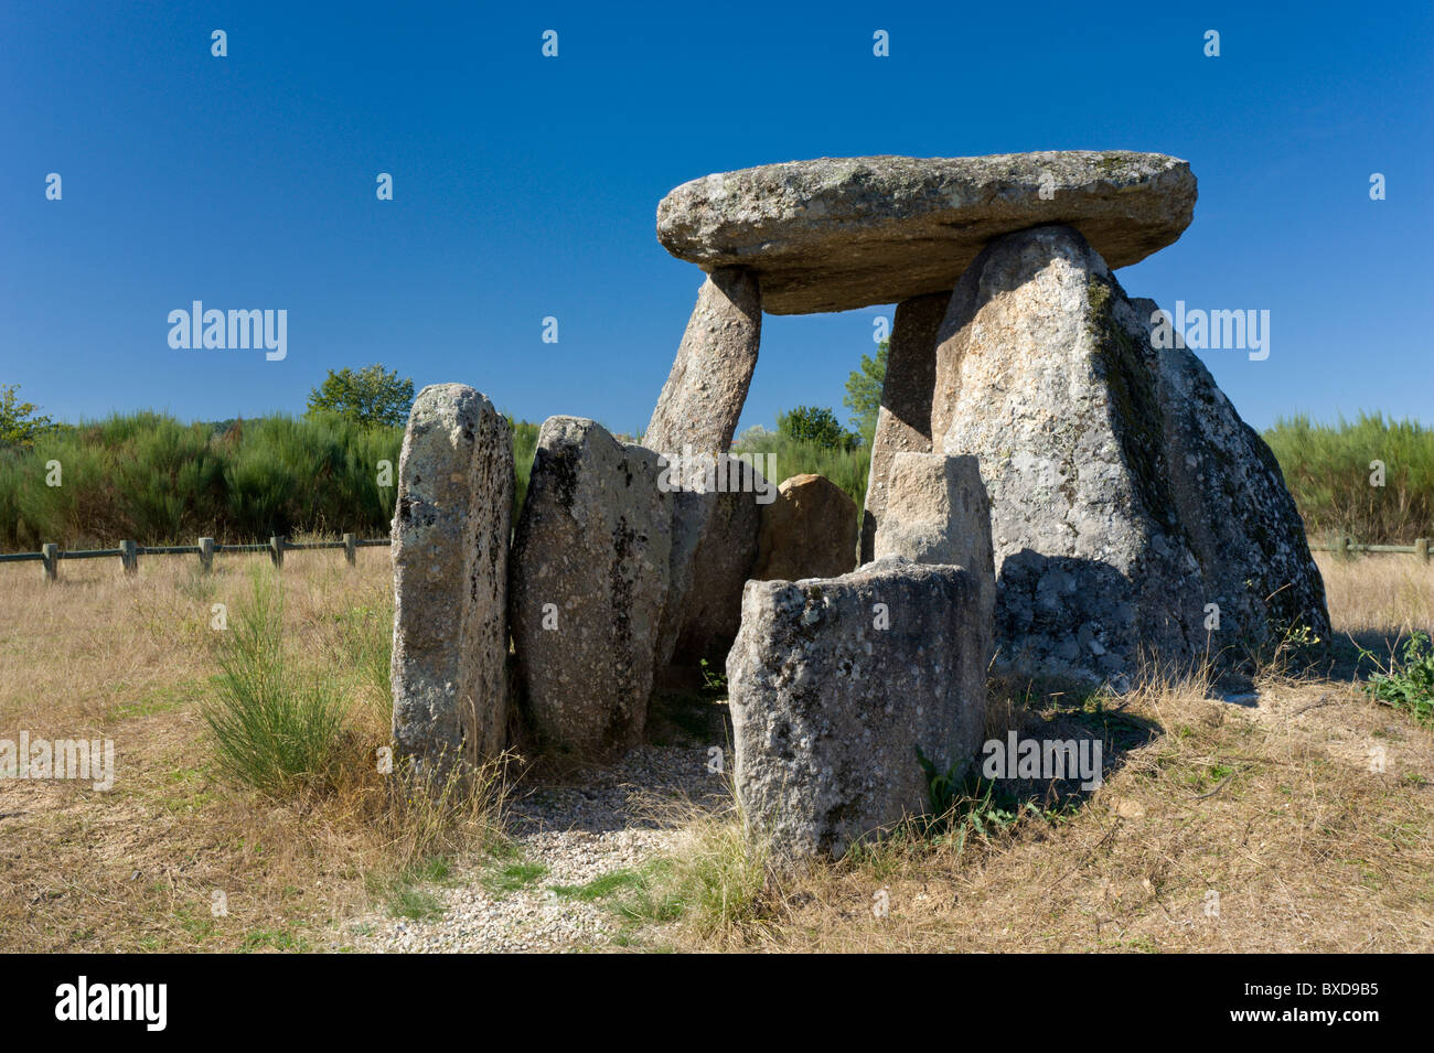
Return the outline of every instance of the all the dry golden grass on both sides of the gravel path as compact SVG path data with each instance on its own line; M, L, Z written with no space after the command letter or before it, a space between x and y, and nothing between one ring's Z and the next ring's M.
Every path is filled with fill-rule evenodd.
M371 639L390 617L389 553L293 553L294 646L351 696L356 755L387 741ZM453 822L357 778L267 801L215 774L199 705L217 672L211 605L248 566L184 557L0 566L0 738L108 736L115 788L0 781L0 948L323 950L331 921L435 851L478 848L489 804ZM1336 635L1434 622L1434 569L1324 560ZM386 652L384 660L386 660ZM743 950L1434 950L1434 736L1348 679L1260 685L1258 709L1205 685L1119 701L1004 691L992 731L1098 734L1106 784L962 844L892 837L754 897L731 818L694 819L668 874L688 901L655 943ZM1371 748L1385 769L1371 771ZM358 771L357 768L354 771ZM422 799L422 798L420 798ZM1037 804L1050 804L1041 794ZM726 827L723 824L727 824ZM215 917L215 891L228 915ZM668 890L671 891L671 890ZM873 913L885 891L886 917ZM657 894L665 894L657 890ZM1217 914L1213 913L1217 894ZM695 913L694 913L695 911Z

